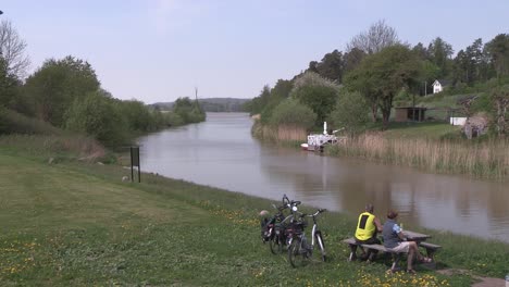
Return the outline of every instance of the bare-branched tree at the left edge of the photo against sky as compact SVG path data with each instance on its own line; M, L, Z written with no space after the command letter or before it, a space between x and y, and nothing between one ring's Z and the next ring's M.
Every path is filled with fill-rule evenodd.
M0 23L0 55L5 61L8 73L23 79L30 60L25 54L26 42L10 21Z

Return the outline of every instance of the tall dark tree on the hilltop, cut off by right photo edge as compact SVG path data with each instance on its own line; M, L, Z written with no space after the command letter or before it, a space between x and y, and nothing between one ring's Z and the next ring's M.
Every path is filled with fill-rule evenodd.
M486 43L486 50L489 53L493 65L500 78L509 74L509 34L499 34L493 40Z

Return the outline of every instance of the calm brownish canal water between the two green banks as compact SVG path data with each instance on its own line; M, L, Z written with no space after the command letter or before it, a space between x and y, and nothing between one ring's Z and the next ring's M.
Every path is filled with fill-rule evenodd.
M508 184L323 157L262 144L246 113L209 113L207 122L139 139L144 172L357 215L367 202L385 220L509 242ZM269 209L269 207L268 207ZM352 226L353 228L353 226Z

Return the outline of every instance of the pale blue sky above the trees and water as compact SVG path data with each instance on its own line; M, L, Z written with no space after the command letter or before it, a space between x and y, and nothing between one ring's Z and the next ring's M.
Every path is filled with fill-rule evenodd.
M455 51L509 33L509 1L12 0L0 2L28 43L30 72L45 59L87 60L115 98L252 98L312 60L344 50L385 20L411 45L440 36Z

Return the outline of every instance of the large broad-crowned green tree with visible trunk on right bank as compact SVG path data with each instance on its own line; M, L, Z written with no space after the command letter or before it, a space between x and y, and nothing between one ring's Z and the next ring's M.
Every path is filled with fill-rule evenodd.
M407 46L387 47L378 53L368 55L361 65L348 76L350 88L375 98L382 111L384 128L387 128L394 97L404 87L419 85L422 61Z

